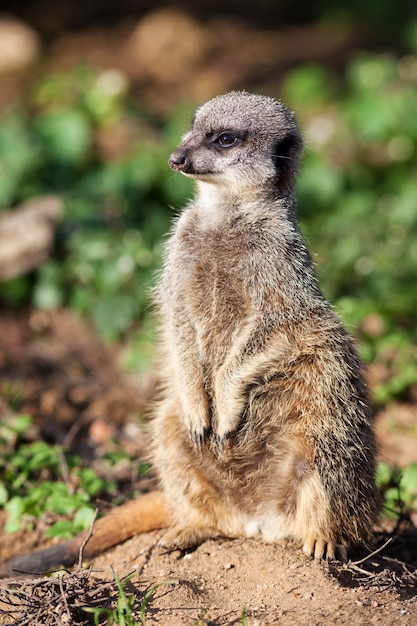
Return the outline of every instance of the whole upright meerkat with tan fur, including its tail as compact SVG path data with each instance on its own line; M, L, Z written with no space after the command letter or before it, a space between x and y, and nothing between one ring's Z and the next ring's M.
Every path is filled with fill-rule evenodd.
M216 536L291 538L318 559L369 538L379 510L371 409L297 225L302 149L281 102L231 92L196 110L169 159L196 195L156 290L162 491L124 505L123 538L165 527L161 543L182 550ZM87 557L120 541L121 516L97 523ZM80 543L59 559L75 560ZM57 547L38 555L32 567L50 567Z

